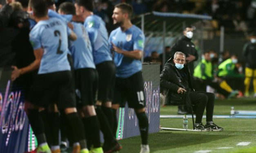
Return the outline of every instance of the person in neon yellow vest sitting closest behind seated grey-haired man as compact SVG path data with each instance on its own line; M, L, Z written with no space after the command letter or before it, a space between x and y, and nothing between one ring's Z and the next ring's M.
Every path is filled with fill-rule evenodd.
M196 66L194 70L194 77L202 80L203 83L201 84L201 87L203 87L203 91L205 91L206 86L209 85L227 98L234 96L231 94L232 91L228 92L227 90L224 90L220 87L219 83L213 81L214 77L209 52L204 53L204 58L199 62L198 66Z

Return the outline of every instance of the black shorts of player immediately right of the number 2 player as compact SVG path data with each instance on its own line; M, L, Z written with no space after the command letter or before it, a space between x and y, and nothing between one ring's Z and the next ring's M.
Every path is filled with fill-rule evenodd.
M98 90L98 72L93 68L75 70L77 107L94 105Z

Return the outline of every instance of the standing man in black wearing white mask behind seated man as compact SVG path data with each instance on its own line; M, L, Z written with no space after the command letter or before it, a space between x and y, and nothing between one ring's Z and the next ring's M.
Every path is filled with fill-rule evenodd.
M196 50L196 46L191 39L193 37L193 27L186 26L183 29L183 36L171 47L170 56L173 58L175 52L183 52L186 55L187 66L191 74L194 74L194 61L197 61L198 54ZM178 107L178 114L188 114L186 107ZM190 112L191 113L191 112Z

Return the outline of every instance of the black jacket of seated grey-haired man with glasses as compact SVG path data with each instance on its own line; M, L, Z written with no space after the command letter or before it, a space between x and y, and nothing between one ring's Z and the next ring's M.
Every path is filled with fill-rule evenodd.
M192 86L192 81L191 81L191 74L190 74L188 66L184 65L183 69L188 74L187 83L188 83L189 89L191 91L194 91L193 86ZM182 87L185 89L185 87L184 87L184 85L182 85L181 81L183 81L183 78L181 77L178 69L175 67L173 58L171 58L166 62L165 67L160 74L160 87L167 89L167 95L165 98L165 101L167 103L169 103L171 101L171 95L181 96L181 94L177 93L179 87Z

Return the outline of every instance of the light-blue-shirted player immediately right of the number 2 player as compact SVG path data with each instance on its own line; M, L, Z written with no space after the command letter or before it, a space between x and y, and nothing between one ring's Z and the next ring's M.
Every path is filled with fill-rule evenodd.
M60 4L58 12L60 14L75 15L76 8L71 2L64 2ZM91 42L82 24L71 23L73 24L73 31L77 35L77 39L72 42L73 45L70 47L75 69L77 107L85 125L87 138L93 146L91 147L91 152L103 153L100 145L99 121L94 108L98 90L98 72L93 62Z

